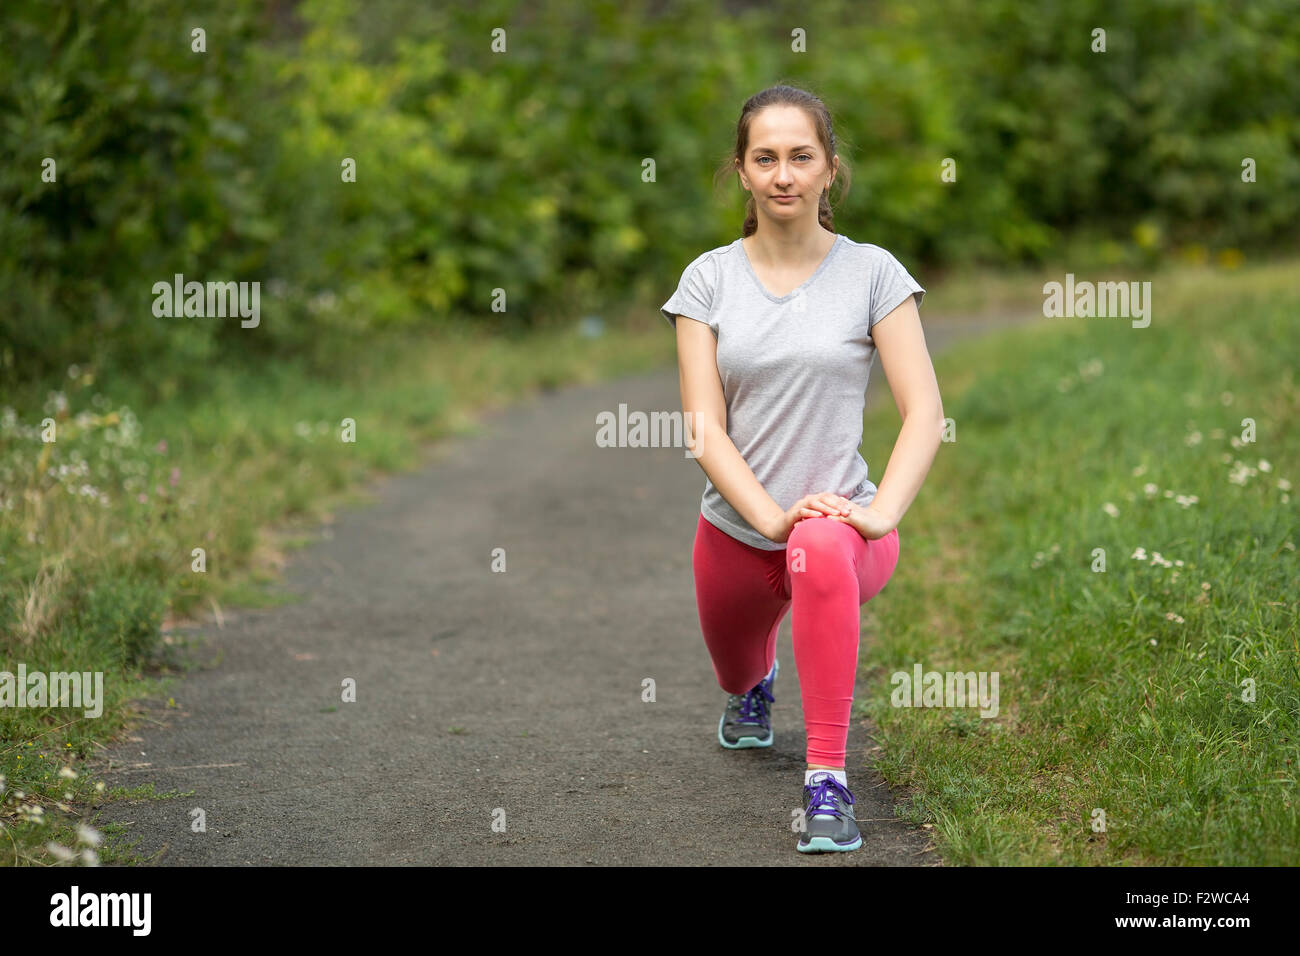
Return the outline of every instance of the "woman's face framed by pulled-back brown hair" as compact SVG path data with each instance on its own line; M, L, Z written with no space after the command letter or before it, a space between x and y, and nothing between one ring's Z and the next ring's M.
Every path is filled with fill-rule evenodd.
M750 120L740 177L760 216L816 221L822 190L835 178L833 170L833 157L827 157L812 120L798 107L767 107Z

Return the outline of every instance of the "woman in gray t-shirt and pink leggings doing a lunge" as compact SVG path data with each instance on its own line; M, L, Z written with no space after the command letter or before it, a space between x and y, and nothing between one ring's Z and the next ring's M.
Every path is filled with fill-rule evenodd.
M662 307L707 477L693 564L701 630L732 695L718 740L771 747L776 632L793 606L807 730L798 849L857 849L845 744L859 607L898 563L897 525L944 419L926 290L885 250L836 234L828 191L848 176L816 96L751 96L732 163L751 194L744 235L692 261ZM858 454L876 351L904 420L879 488Z

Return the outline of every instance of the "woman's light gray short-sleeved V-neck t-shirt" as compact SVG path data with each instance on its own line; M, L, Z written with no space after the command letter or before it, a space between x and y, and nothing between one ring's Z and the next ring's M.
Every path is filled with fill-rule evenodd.
M727 399L727 434L783 509L815 492L868 505L862 411L876 347L871 329L926 290L889 252L837 234L816 272L789 295L759 282L740 239L710 250L681 273L662 307L708 325ZM714 527L767 551L759 535L706 476L699 512Z

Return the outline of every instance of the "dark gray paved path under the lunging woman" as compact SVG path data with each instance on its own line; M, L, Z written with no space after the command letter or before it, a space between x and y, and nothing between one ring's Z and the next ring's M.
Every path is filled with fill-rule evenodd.
M932 352L962 336L926 328ZM868 401L890 401L879 362ZM690 570L703 476L680 449L598 447L595 416L620 403L680 410L676 368L490 415L341 512L286 567L304 600L228 609L224 630L204 628L220 663L182 682L178 708L150 704L155 719L100 761L110 786L192 795L108 804L99 825L127 823L162 865L937 864L864 769L859 721L863 848L794 851L789 617L775 747L718 745L725 693ZM355 702L341 701L347 678Z

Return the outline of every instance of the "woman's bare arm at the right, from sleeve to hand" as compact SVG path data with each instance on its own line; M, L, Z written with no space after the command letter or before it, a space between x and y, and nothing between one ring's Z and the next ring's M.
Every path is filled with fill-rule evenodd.
M863 537L881 537L898 525L926 481L942 438L944 403L939 397L939 380L926 347L914 295L878 321L871 329L871 338L880 352L880 364L902 416L902 428L889 454L884 477L876 485L876 496L864 509L854 509L846 520ZM875 515L864 516L863 511L874 511ZM881 527L884 531L880 531Z

